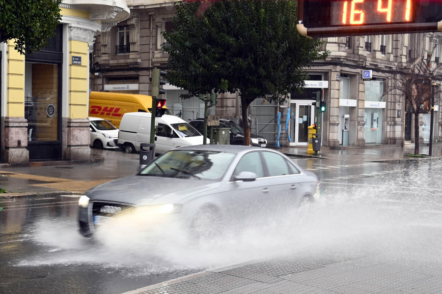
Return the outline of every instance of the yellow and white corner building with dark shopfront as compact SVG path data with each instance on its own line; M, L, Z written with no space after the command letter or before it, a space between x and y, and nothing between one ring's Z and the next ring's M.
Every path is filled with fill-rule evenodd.
M65 0L40 52L1 51L1 152L5 163L90 157L89 52L97 31L129 17L124 0Z

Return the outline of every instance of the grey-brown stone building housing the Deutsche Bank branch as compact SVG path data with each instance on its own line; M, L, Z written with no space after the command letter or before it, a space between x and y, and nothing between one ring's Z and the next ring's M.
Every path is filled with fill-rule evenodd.
M128 0L131 16L126 21L97 35L92 61L94 82L91 90L151 94L152 69L167 69L167 40L162 32L172 29L174 0ZM320 115L322 145L331 148L367 145L403 145L414 142L414 120L406 111L405 99L397 93L384 95L391 79L390 71L405 68L414 59L439 42L433 33L376 36L333 37L324 39L323 50L331 55L314 62L308 69L308 88L293 92L284 103L270 104L257 98L249 109L251 130L267 139L269 145L307 146L308 126L315 122L313 92L322 91L327 111ZM440 48L432 57L439 62ZM371 79L364 80L364 71ZM437 82L439 83L439 82ZM438 86L439 87L439 86ZM166 106L185 120L203 116L204 103L198 98L182 100L184 89L166 84ZM436 99L434 140L441 140L441 114ZM216 110L221 118L240 121L237 94L218 96ZM420 135L428 143L429 114L419 115Z

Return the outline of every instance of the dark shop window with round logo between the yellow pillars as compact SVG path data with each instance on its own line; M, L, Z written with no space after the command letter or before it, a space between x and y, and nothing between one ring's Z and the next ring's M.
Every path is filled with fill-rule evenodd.
M26 63L28 141L58 141L58 65Z

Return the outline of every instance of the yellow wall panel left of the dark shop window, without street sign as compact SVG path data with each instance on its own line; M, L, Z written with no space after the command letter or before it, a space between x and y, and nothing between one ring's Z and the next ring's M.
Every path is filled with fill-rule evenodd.
M25 56L7 42L6 117L25 117Z

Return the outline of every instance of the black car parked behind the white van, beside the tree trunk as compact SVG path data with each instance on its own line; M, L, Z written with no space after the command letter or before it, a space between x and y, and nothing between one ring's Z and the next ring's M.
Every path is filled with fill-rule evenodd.
M198 132L203 133L204 119L196 118L189 122ZM244 129L235 122L228 119L220 119L220 125L215 128L230 129L230 145L244 145ZM209 127L207 127L207 137L210 137ZM250 145L253 147L266 147L267 140L250 133Z

